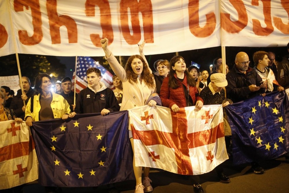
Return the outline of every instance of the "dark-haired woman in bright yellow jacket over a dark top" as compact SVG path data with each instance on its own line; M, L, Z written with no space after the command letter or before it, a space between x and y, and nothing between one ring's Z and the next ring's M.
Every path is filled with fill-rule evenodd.
M32 121L56 118L66 120L70 113L69 104L61 95L51 92L51 77L46 73L39 74L34 86L35 95L29 99L25 109L26 124L32 126Z

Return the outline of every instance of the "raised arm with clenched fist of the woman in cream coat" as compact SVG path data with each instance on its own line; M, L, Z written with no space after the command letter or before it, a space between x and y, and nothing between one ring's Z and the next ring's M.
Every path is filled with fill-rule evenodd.
M112 71L121 80L121 82L126 82L125 69L118 63L117 59L114 57L110 49L108 49L108 38L101 39L100 43L105 53L105 59L108 60Z

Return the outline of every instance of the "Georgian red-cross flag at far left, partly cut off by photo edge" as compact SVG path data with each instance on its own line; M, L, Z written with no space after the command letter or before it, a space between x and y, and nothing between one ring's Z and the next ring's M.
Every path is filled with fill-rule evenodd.
M0 124L0 190L38 179L38 161L31 132L25 122Z

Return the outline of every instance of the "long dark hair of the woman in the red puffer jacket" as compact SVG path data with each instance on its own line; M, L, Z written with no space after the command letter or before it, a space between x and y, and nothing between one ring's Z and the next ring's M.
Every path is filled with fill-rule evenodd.
M179 60L184 58L182 56L174 56L170 61L170 73L168 74L168 86L172 89L176 89L179 87L177 78L175 78L176 71L173 70L175 63ZM187 77L187 82L190 86L195 87L196 81L189 75L188 71L184 71L185 76Z

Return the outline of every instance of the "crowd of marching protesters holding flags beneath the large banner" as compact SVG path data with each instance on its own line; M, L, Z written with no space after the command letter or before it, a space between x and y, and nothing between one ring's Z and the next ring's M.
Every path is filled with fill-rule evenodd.
M36 77L34 89L29 78L22 76L19 83L22 81L23 90L19 89L14 97L9 87L1 86L0 121L25 121L28 126L32 126L35 121L55 118L66 120L79 113L100 113L105 116L110 112L143 105L160 105L177 113L182 107L195 106L196 109L201 109L203 105L211 104L222 104L225 107L233 102L289 88L289 55L284 56L281 63L277 63L273 52L257 51L253 54L254 67L250 67L249 56L245 52L239 52L234 67L229 70L226 65L225 73L221 73L224 65L222 58L215 58L213 68L207 71L196 66L188 67L182 56L174 56L170 61L157 60L153 65L153 73L144 56L144 42L138 45L139 55L130 56L125 67L118 63L108 48L107 38L101 39L101 45L115 74L114 90L101 82L101 72L97 68L87 70L88 86L75 96L76 102L71 91L73 84L70 77L55 84L56 90L52 92L51 77L48 74L40 73ZM287 49L289 52L289 43ZM134 150L130 126L128 129ZM230 148L230 135L230 128L225 127L227 150ZM137 167L134 163L135 160L135 192L152 192L150 168ZM257 161L251 165L255 173L264 173ZM221 182L230 182L229 177L223 173L222 164L216 167L216 171ZM201 175L191 177L194 192L203 192L200 177ZM114 186L110 185L110 188L114 189ZM56 191L53 187L45 187L45 190Z

